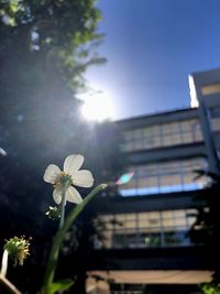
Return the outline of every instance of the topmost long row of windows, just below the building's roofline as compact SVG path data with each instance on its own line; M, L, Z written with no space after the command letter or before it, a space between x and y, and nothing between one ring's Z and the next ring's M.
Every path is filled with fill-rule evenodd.
M198 120L185 120L124 131L123 151L138 151L202 141Z

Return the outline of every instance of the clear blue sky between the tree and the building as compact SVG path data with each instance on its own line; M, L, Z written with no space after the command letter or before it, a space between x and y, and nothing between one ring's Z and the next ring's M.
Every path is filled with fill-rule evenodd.
M91 86L112 99L114 119L189 107L188 75L220 67L220 0L100 0Z

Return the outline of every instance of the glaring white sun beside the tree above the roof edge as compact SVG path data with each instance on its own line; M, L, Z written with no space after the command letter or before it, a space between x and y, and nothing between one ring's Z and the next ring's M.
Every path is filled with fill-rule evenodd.
M103 94L84 99L81 115L88 120L103 121L114 116L111 98Z

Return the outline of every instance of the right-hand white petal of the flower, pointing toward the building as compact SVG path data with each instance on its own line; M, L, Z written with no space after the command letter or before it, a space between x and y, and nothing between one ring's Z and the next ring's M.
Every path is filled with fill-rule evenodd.
M91 172L81 170L72 173L73 184L79 187L89 188L94 185L94 177Z

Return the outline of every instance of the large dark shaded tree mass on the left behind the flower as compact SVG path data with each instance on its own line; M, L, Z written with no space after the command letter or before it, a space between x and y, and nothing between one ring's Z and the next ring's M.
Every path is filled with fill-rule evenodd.
M91 129L75 98L86 90L87 67L105 62L96 52L100 19L94 0L0 0L0 148L8 153L0 155L0 242L34 238L25 268L9 271L23 292L40 288L57 227L44 216L53 205L42 178L47 164L84 152L97 183L120 173L113 124Z

